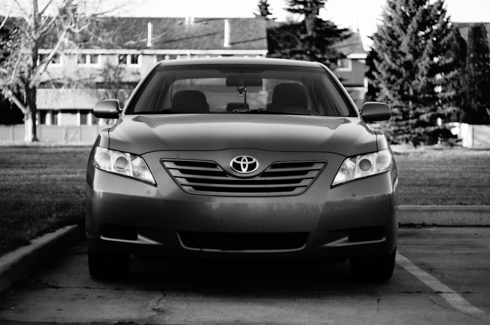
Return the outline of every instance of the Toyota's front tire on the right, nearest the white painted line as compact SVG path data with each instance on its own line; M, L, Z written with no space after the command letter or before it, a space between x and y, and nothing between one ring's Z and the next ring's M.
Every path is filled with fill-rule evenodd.
M393 274L396 247L392 253L383 256L372 256L350 259L350 270L354 278L363 281L384 282Z

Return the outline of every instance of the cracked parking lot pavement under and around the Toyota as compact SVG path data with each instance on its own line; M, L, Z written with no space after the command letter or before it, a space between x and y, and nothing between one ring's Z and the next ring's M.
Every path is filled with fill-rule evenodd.
M349 264L131 261L95 281L80 242L0 296L0 323L490 324L490 228L401 228L386 283Z

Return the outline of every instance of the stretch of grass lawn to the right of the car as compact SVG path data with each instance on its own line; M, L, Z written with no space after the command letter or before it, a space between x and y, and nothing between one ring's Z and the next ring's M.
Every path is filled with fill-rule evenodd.
M490 205L490 150L395 152L400 205Z

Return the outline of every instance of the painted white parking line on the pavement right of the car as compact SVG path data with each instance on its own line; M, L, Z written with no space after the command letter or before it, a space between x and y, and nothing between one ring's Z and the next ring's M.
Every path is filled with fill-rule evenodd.
M469 302L465 300L465 298L461 297L451 288L442 284L436 278L434 278L424 270L420 269L417 265L412 263L408 258L401 255L400 253L396 253L396 263L398 263L398 265L400 265L402 268L416 276L417 279L429 286L432 290L438 293L442 298L444 298L459 311L468 314L485 313L483 310L472 306Z

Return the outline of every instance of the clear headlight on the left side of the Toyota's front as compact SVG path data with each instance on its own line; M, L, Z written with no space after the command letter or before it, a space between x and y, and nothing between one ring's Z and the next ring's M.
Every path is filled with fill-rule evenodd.
M94 165L102 170L155 184L147 163L142 157L137 155L97 147L94 155Z

